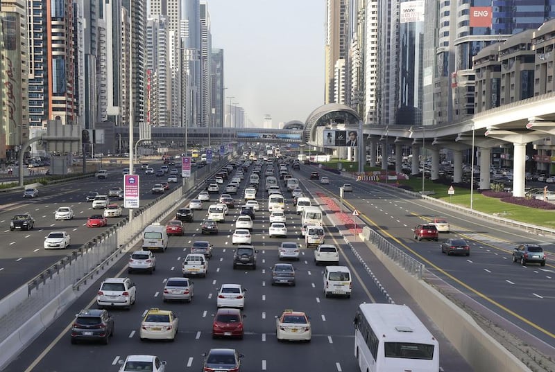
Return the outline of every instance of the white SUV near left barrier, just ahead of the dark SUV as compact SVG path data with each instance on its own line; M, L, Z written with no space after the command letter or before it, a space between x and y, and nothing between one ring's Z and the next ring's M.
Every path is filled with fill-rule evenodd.
M130 308L137 296L137 287L130 278L105 278L96 294L96 305Z

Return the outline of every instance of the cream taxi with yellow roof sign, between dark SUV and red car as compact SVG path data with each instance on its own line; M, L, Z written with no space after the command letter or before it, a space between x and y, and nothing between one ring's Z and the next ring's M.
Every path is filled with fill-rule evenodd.
M145 339L176 339L179 328L179 318L171 310L150 308L144 315L139 328L139 338Z

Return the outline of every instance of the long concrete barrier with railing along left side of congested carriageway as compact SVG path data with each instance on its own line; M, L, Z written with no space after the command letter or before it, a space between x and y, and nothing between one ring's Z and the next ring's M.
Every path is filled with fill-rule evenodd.
M81 285L113 263L126 246L140 237L145 226L175 211L187 191L231 158L191 173L193 177L185 179L182 187L133 211L132 220L121 220L4 297L0 301L0 370L78 297Z

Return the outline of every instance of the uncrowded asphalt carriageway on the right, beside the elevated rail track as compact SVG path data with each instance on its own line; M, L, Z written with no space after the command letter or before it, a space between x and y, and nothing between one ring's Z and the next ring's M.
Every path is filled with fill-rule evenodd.
M353 193L345 201L366 216L365 222L425 263L427 268L482 305L499 313L551 346L555 346L555 322L549 309L554 305L555 270L553 261L545 267L511 262L512 247L520 242L538 242L545 247L553 239L499 226L487 220L468 217L439 204L422 202L399 191L384 190L371 184L353 182ZM336 177L327 187L338 194L343 181ZM338 197L339 199L339 197ZM434 215L452 223L453 232L441 233L439 242L417 242L411 229ZM460 236L471 246L470 257L441 254L440 243Z

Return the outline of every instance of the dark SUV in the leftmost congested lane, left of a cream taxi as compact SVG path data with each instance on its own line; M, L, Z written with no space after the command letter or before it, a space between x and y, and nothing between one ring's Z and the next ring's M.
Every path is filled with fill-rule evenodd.
M71 344L81 341L100 341L105 345L114 335L114 318L106 310L81 310L71 324Z

